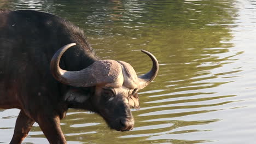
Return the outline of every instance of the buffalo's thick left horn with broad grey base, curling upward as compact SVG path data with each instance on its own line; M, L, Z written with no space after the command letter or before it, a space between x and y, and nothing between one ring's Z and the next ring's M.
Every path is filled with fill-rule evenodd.
M61 83L74 87L90 87L105 85L106 83L120 83L121 66L117 61L110 59L96 61L89 67L79 71L67 71L60 68L60 59L69 47L75 44L67 44L58 50L51 59L50 69L54 78Z

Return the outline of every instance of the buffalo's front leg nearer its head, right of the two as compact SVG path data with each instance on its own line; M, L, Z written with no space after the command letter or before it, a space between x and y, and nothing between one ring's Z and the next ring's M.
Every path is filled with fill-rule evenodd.
M60 127L59 116L40 115L38 124L50 144L66 144L65 136Z

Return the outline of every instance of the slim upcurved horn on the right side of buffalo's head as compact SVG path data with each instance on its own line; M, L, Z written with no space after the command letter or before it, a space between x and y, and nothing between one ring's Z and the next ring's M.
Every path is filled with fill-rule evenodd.
M152 82L155 79L156 75L158 74L158 70L159 70L158 59L156 59L155 56L148 51L145 51L145 50L141 50L141 51L146 53L151 58L153 66L147 74L144 74L138 77L139 78L138 89L142 89L146 87L150 82Z

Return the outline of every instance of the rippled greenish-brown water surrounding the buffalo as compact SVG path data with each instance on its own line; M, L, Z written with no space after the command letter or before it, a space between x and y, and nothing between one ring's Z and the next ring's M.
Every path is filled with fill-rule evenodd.
M34 9L83 28L97 55L150 69L158 77L139 93L132 131L69 110L61 121L68 143L255 143L256 1L21 1L0 8ZM8 143L19 110L0 110L0 143ZM24 143L48 143L34 124Z

